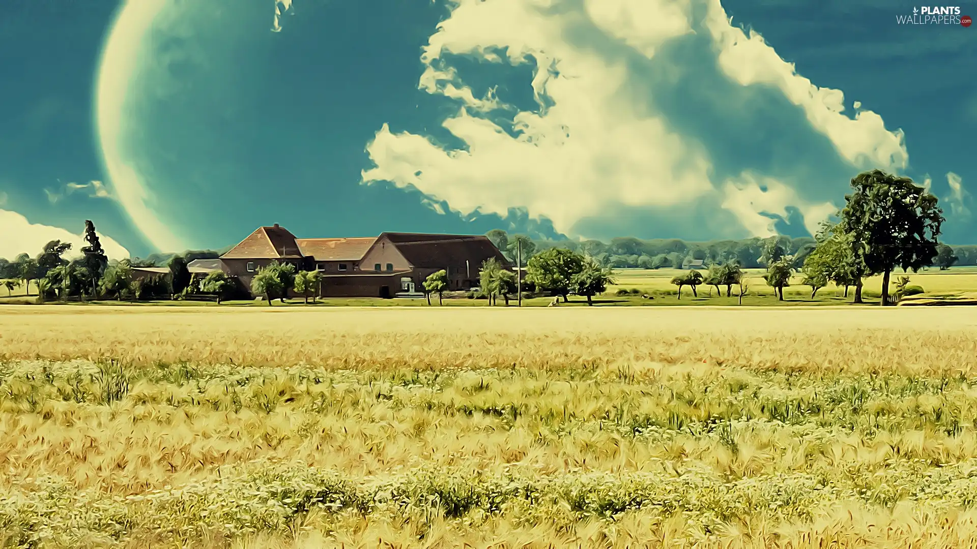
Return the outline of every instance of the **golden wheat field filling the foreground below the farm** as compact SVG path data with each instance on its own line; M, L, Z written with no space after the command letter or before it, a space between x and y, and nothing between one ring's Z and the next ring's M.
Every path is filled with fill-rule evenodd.
M0 546L977 546L977 315L0 307Z

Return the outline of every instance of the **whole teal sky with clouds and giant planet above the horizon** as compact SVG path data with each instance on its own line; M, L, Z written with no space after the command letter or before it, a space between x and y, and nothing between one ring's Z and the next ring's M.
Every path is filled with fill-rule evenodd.
M807 235L852 177L977 242L977 28L892 0L32 0L0 18L0 257L261 225ZM923 10L925 11L925 10ZM952 12L954 10L951 10Z

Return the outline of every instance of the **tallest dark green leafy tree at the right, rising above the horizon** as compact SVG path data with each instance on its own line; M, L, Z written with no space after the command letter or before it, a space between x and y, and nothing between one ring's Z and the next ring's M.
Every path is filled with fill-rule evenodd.
M882 274L881 305L889 305L889 278L932 265L945 218L937 197L906 177L880 170L855 176L845 195L839 229L852 238L856 258L871 274ZM861 288L857 287L856 297Z

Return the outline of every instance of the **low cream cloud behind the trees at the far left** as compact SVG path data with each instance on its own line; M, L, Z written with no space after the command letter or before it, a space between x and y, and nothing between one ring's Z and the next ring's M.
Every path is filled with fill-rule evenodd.
M35 257L51 240L71 243L71 250L64 256L68 259L81 255L81 248L88 245L84 233L72 234L60 227L32 224L21 214L9 210L0 210L0 234L4 236L0 238L0 257L11 261L21 253ZM129 251L110 236L99 233L99 241L109 258L129 257Z

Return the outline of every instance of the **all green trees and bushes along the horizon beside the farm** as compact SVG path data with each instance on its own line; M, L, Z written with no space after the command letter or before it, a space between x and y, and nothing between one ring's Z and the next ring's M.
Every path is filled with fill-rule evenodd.
M872 274L883 274L884 302L890 274L897 267L907 272L931 266L945 270L953 265L977 264L977 245L953 247L938 241L945 221L942 210L937 207L938 200L912 180L873 170L852 179L851 187L854 192L845 196L846 206L836 214L839 221L823 223L821 231L814 237L771 236L710 242L621 237L606 243L600 240L534 240L521 234L510 236L502 230L489 231L487 236L510 262L516 263L517 257L520 258L521 267L532 266L533 258L537 257L540 258L535 262L537 266L562 262L563 271L558 276L562 279L561 283L552 283L552 279L547 282L547 278L539 276L534 281L538 282L538 287L555 291L565 299L568 293L574 293L571 278L581 273L604 280L603 285L606 286L608 280L612 279L610 270L614 268L697 267L708 269L708 274L702 275L693 269L672 279L672 283L679 288L679 297L683 286L691 286L695 293L696 286L701 284L716 285L717 291L718 285L726 285L729 296L731 286L739 285L743 269L764 268L767 271L764 278L775 287L781 299L783 288L789 284L790 275L794 272L804 275L804 283L812 287L812 298L818 289L833 282L845 288L846 296L848 288L855 287L856 302L861 302L862 279ZM52 293L66 297L72 292L82 297L113 295L119 299L123 295L138 299L143 294L161 295L167 292L172 296L186 291L190 285L191 275L187 268L190 261L221 255L221 251L217 250L197 250L109 262L94 224L87 220L85 240L89 246L82 248L82 256L72 261L62 257L71 244L61 240L45 244L35 258L25 253L13 262L0 258L0 280L6 285L8 294L16 286L15 281L21 280L28 294L30 282L35 281L42 299ZM161 267L162 262L169 268L168 280L163 280L165 275L149 278L132 276L133 268ZM569 265L573 268L566 267ZM486 272L486 269L483 271ZM488 273L497 271L488 266ZM530 275L527 279L531 281L533 269L528 271ZM535 271L538 273L538 268ZM272 272L269 272L268 276L257 278L259 284L264 284L261 280L269 278L270 291L257 291L262 288L252 290L269 296L279 293L278 286L294 287L295 275L272 276ZM210 288L209 293L216 293L220 300L222 296L233 293L229 289L233 284L227 279L218 280L216 276L202 282ZM275 280L282 283L278 284ZM714 283L717 280L721 281ZM428 282L431 282L432 288L440 287L437 279L429 279L424 284L426 290ZM510 282L505 274L492 274L488 278L483 277L482 285L496 288L497 291L493 293L489 290L489 299L493 299L494 295L510 295ZM318 280L303 280L298 285L311 288L318 283ZM901 283L905 286L907 282ZM600 285L597 283L595 287ZM582 288L579 295L587 295L589 301L593 294L586 287L586 284L578 286L578 289ZM742 292L743 288L741 297Z

